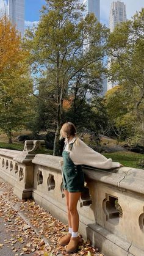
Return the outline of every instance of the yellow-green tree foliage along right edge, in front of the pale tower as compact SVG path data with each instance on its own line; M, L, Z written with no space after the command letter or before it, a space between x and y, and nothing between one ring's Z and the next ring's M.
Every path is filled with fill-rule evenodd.
M124 131L131 142L139 137L140 145L144 136L143 19L142 9L132 20L119 24L109 36L112 59L109 76L120 87L107 93L107 108L113 125L120 131L118 135Z

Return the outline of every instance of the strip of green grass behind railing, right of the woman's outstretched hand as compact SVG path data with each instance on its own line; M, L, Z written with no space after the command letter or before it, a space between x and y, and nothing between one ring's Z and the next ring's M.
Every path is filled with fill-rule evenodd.
M114 162L119 162L123 164L123 166L142 169L142 167L139 166L139 160L144 160L143 154L138 154L134 152L115 152L104 153L103 155L106 156L106 158L112 158Z

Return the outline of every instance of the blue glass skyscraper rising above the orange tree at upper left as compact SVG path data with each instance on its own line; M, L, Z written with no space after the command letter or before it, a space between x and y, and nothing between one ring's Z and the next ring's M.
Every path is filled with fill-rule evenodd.
M16 29L24 35L24 0L9 0L8 15Z

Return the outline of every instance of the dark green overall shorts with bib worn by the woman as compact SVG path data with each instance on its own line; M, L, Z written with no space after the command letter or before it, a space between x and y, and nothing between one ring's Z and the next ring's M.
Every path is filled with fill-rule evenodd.
M73 148L70 144L70 150ZM70 158L70 152L65 151L65 146L62 152L63 156L63 189L68 192L82 192L84 191L84 172L82 166L76 165Z

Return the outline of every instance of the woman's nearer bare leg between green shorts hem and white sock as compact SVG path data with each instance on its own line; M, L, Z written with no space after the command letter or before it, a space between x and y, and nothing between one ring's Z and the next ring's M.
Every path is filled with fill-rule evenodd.
M81 196L81 192L68 192L68 210L70 212L70 224L73 232L79 229L79 214L77 212L77 202Z

